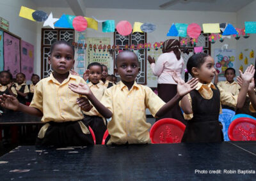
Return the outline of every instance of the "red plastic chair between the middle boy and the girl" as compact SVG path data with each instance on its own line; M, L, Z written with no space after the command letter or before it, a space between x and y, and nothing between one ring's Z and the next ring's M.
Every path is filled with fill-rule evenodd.
M164 118L158 120L150 129L152 143L180 143L186 126L179 120Z

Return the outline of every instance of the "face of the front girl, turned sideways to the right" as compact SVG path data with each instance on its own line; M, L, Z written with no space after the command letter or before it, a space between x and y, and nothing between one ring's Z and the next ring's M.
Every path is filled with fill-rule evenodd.
M201 83L209 83L214 78L216 69L214 68L214 59L211 56L205 57L205 62L202 66L198 69L198 80Z

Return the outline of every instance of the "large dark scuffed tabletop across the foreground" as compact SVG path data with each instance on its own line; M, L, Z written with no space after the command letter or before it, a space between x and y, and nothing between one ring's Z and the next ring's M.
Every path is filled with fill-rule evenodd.
M0 180L253 180L254 150L255 143L245 141L68 150L21 146L0 157Z

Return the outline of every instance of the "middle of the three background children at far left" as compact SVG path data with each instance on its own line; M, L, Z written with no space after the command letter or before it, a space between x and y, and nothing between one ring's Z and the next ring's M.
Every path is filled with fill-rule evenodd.
M26 97L28 96L29 89L28 85L26 85L26 75L24 73L17 73L16 75L17 83L14 83L13 87L15 87L16 92L18 94L17 99L23 105L26 104Z

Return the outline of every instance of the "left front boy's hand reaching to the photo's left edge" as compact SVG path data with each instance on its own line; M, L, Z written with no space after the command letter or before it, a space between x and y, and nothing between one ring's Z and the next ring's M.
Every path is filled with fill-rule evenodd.
M8 108L10 110L18 110L19 108L19 101L14 96L3 94L0 96L0 105L3 108Z

